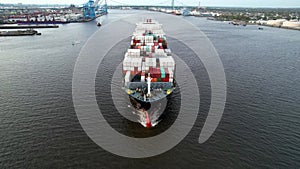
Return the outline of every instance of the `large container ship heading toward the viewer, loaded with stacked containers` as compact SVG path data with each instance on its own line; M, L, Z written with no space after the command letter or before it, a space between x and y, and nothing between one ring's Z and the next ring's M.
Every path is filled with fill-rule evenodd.
M162 25L152 19L136 24L131 46L123 60L123 88L138 110L138 121L155 126L162 113L150 111L176 87L175 61Z

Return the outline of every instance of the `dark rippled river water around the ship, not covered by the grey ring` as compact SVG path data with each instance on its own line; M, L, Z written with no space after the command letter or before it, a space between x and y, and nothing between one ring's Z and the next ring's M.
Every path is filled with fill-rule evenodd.
M118 10L100 19L105 27L136 13L143 19L142 11ZM224 114L208 141L198 143L210 106L208 73L182 42L169 38L173 52L201 84L200 110L190 133L173 149L141 159L111 154L93 142L75 113L72 76L84 44L101 28L96 21L73 23L40 29L42 36L0 38L0 168L299 168L299 31L258 30L255 25L238 27L205 18L178 17L205 33L226 74ZM194 40L192 33L190 38ZM128 41L120 39L100 65L97 102L116 131L151 137L176 120L180 92L174 93L168 105L174 113L166 113L151 130L120 116L102 91L113 74L110 68L122 59L122 55L113 56L122 53ZM111 112L105 114L105 110Z

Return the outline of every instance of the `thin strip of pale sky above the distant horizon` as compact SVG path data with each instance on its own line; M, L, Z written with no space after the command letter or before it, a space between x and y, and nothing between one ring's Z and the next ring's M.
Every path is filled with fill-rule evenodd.
M0 3L75 4L88 0L0 0ZM171 0L107 0L108 5L171 5ZM198 6L199 0L175 0L175 5ZM300 7L300 0L201 0L201 6L226 7Z

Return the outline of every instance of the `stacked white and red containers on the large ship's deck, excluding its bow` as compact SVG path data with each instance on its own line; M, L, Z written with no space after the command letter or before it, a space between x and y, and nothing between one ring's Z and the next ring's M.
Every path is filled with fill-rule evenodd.
M136 76L138 82L145 82L148 73L152 82L172 83L174 71L175 61L168 49L162 25L151 19L138 23L123 61L125 84Z

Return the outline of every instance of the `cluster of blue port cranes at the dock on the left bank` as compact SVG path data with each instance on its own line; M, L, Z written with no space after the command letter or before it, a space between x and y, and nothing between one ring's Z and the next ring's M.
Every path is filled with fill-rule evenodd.
M102 4L103 5L99 5ZM96 18L97 11L101 9L100 14L107 14L107 2L106 0L89 0L83 5L83 17L85 19L93 20Z

